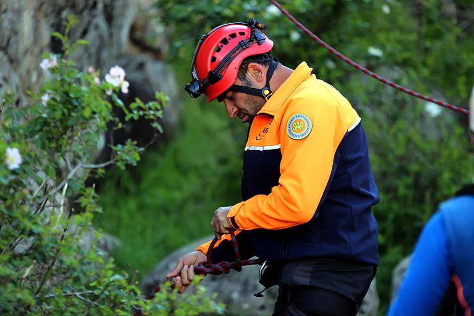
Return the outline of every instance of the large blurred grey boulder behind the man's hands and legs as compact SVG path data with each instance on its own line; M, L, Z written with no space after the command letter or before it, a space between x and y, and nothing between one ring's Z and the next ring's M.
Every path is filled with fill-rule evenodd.
M142 280L140 289L145 294L151 293L164 280L165 275L174 269L177 260L212 238L213 236L207 236L172 252ZM259 265L245 266L241 272L231 270L227 275L208 275L201 284L208 289L207 295L218 294L216 300L225 303L226 315L271 315L278 296L278 287L273 286L266 290L262 298L255 297L254 293L263 290L263 286L258 283L259 269ZM375 316L378 306L379 298L374 280L359 315Z

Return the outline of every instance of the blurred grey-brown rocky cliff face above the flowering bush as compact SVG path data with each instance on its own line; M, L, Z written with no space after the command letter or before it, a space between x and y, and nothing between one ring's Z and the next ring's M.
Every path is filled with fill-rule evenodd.
M152 0L3 0L0 1L0 96L6 89L18 96L35 90L47 74L39 68L44 52L61 53L61 42L51 33L64 32L69 14L79 23L71 30L72 40L89 45L73 55L77 65L102 69L114 65L127 72L141 93L163 91L171 101L163 125L172 128L177 120L177 87L172 71L164 64L167 52L165 27L159 24Z

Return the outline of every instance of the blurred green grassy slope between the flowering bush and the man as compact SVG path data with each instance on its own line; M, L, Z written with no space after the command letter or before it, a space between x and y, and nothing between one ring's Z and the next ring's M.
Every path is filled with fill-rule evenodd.
M107 179L100 196L104 213L95 224L123 240L114 254L121 267L143 276L177 247L212 234L217 207L239 202L240 146L233 145L220 109L189 104L172 143Z

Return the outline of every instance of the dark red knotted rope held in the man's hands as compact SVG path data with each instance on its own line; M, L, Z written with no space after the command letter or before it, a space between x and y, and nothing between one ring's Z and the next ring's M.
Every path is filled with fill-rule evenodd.
M235 262L227 262L222 261L218 264L211 263L211 256L212 250L214 249L214 245L217 242L217 237L214 237L212 242L209 245L209 249L207 251L207 262L200 262L194 267L194 272L197 274L212 274L212 275L221 275L221 274L228 274L230 269L234 269L235 271L242 271L243 266L250 266L250 265L261 265L263 260L261 259L249 259L249 260L241 260L241 255L239 251L239 245L237 244L237 239L235 238L235 233L233 229L229 229L230 238L232 241L232 246L235 254ZM146 300L150 300L155 297L155 294L161 290L161 286L165 285L166 283L170 282L172 279L166 279L163 283L155 287L155 289L146 297ZM142 312L139 308L134 307L137 311L135 312L134 316L139 316Z

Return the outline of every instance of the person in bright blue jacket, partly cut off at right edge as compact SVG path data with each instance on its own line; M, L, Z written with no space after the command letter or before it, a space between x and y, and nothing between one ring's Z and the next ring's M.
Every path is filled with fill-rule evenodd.
M474 90L470 100L474 144ZM474 315L474 184L425 225L388 316Z

